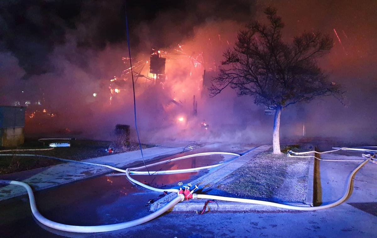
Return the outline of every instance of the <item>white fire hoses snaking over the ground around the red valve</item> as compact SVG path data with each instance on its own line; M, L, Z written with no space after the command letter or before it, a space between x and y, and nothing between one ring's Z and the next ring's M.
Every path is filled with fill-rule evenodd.
M356 151L368 151L368 152L373 152L373 153L377 152L377 150L369 150L369 149L362 149L362 148L346 148L346 147L337 148L334 151L349 150L349 149L356 150ZM321 154L322 153L330 153L330 152L334 152L334 151L325 151L325 152L319 152L319 153L321 153ZM309 151L309 152L303 152L303 153L296 153L296 152L290 151L290 153L293 153L293 154L296 154L296 155L308 154L308 153L313 153L313 152L316 152L316 151ZM146 174L147 172L130 171L130 169L137 170L137 169L141 169L141 168L145 168L145 167L159 165L159 164L162 164L162 163L167 163L167 162L170 162L170 161L186 159L186 158L190 158L190 157L197 157L197 156L207 156L207 155L213 155L213 154L227 154L227 155L233 155L233 156L237 156L237 157L240 156L239 154L223 153L223 152L199 153L199 154L192 154L192 155L188 155L188 156L177 157L177 158L174 158L174 159L171 159L171 160L165 160L165 161L161 161L161 162L157 162L157 163L152 163L152 164L146 165L146 166L140 166L140 167L136 167L136 168L127 168L127 169L124 170L124 169L119 169L119 168L116 168L116 167L113 167L113 166L110 166L110 165L103 165L103 164L98 164L98 163L90 163L90 162L83 162L83 161L76 161L76 160L61 159L61 158L51 157L51 156L40 156L40 155L35 155L35 154L17 154L17 155L18 156L39 156L39 157L46 157L46 158L51 158L51 159L58 159L58 160L65 161L65 162L74 162L74 163L83 163L83 164L87 164L87 165L102 166L102 167L113 169L115 171L123 172L123 173L125 173L125 175L127 176L127 178L131 182L133 182L137 185L140 185L144 188L150 189L152 191L179 192L178 189L173 189L173 188L172 189L159 189L159 188L153 188L151 186L145 185L145 184L133 179L132 177L130 177L130 174ZM10 156L10 155L13 155L13 154L0 154L0 156ZM292 157L312 157L312 156L292 156ZM368 155L367 155L367 157L368 157ZM266 205L266 206L281 207L281 208L299 210L299 211L315 211L315 210L327 209L327 208L330 208L330 207L337 206L337 205L339 205L340 203L342 203L343 201L346 200L346 198L348 197L348 195L351 191L352 177L368 161L373 160L371 157L372 156L369 155L369 157L367 159L363 160L363 162L360 163L360 165L357 166L357 168L355 168L351 172L351 174L349 175L347 182L346 182L347 183L347 189L346 189L343 197L341 197L339 200L335 201L334 203L326 204L326 205L323 205L323 206L316 206L316 207L293 206L293 205L280 204L280 203L274 203L274 202L269 202L269 201L244 199L244 198L230 198L230 197L221 197L221 196L206 195L206 194L195 194L195 193L193 194L193 199L206 198L206 199L215 199L215 200L224 200L224 201L236 201L236 202L242 202L242 203L253 203L253 204ZM331 160L331 161L333 161L333 160ZM339 160L339 161L348 161L348 160ZM354 161L354 160L352 160L352 161ZM373 162L375 162L375 161L373 161ZM204 167L198 167L198 168L177 169L177 170L173 170L173 171L150 171L150 173L167 174L167 173L178 173L178 172L192 172L192 171L205 169L205 168L211 168L211 167L215 167L215 166L219 166L219 165L223 165L223 164L225 164L225 163L219 163L217 165L210 165L210 166L204 166ZM128 228L128 227L132 227L132 226L137 226L139 224L145 223L147 221L150 221L150 220L158 217L159 215L168 211L170 208L174 207L180 201L183 201L184 198L185 198L185 196L183 194L178 194L178 197L176 197L173 201L166 204L164 207L162 207L158 211L153 212L150 215L147 215L143 218L139 218L139 219L136 219L136 220L133 220L133 221L127 221L127 222L118 223L118 224L102 225L102 226L72 226L72 225L57 223L57 222L48 220L47 218L43 217L43 215L41 215L39 213L38 209L37 209L37 206L35 204L33 191L28 184L23 183L23 182L14 181L14 180L0 180L0 183L5 183L5 184L9 184L9 185L17 185L17 186L22 186L23 188L25 188L26 191L28 192L28 195L29 195L30 207L31 207L32 214L34 215L34 217L40 223L42 223L42 224L44 224L48 227L51 227L51 228L54 228L54 229L57 229L57 230L67 231L67 232L80 232L80 233L106 232L106 231L120 230L120 229L124 229L124 228Z

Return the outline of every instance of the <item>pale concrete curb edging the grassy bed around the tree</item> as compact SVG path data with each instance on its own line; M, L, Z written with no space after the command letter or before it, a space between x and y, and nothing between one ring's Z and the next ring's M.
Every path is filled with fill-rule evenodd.
M213 171L208 172L207 174L203 175L202 177L194 180L191 184L201 185L200 187L204 188L202 192L211 190L211 186L215 185L217 182L222 180L231 172L235 171L236 169L240 168L245 163L249 162L253 159L254 156L257 154L267 151L271 148L270 145L259 146L254 150L249 151L248 153L242 155L241 157L233 160L231 163L226 165L222 165L213 169ZM314 160L311 160L314 161ZM313 171L313 166L310 166L309 172ZM314 172L313 172L314 175ZM311 185L309 185L311 183ZM308 178L308 187L313 188L313 177L309 175ZM176 197L175 193L171 193L164 198L153 203L150 207L151 212L155 212L161 207L165 206L168 202L173 200ZM307 194L307 200L313 200L313 189L311 192ZM176 204L173 209L170 211L201 211L203 209L205 199L197 199L197 200L190 200L190 201L183 201L181 203ZM304 204L304 203L285 203L289 205L295 206L313 206L313 202ZM259 204L251 204L251 203L237 203L237 202L226 202L226 201L218 201L218 203L209 203L208 208L212 211L288 211L288 209L280 208L280 207L273 207L273 206L265 206Z

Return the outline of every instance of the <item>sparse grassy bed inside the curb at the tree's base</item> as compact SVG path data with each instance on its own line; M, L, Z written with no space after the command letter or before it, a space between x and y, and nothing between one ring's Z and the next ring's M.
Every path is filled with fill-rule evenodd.
M287 157L288 150L308 151L308 146L282 146L281 155L272 148L225 177L219 189L240 198L304 203L310 158Z

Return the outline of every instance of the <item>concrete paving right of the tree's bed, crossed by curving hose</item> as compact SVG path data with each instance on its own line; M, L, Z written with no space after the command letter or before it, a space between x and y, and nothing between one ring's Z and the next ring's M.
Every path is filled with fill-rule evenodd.
M321 159L336 160L364 160L361 152L347 151L322 154ZM317 155L318 156L318 155ZM316 161L317 163L317 191L316 205L325 205L338 200L346 191L346 180L362 162ZM377 215L377 165L366 163L354 176L351 195L345 203L364 212Z

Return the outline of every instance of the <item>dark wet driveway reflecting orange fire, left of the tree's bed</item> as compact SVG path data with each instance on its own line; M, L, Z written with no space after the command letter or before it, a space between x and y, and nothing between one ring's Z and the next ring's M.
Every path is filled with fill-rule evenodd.
M199 148L175 156L155 159L153 162L209 151L229 152L229 150L221 148ZM158 171L194 168L214 165L229 159L232 159L232 156L201 156L168 162L152 166L149 169ZM178 187L178 182L189 183L206 172L208 172L207 169L190 173L133 175L133 177L153 187L172 188L173 186ZM78 226L95 226L120 223L148 215L150 212L146 203L149 199L158 199L159 195L161 193L132 185L124 175L102 175L37 191L35 200L40 213L52 221ZM52 233L46 230L50 230ZM53 233L64 236L72 235L72 233L49 229L35 221L27 196L12 198L0 203L0 237L51 237L54 236Z

